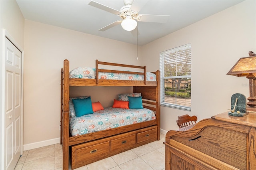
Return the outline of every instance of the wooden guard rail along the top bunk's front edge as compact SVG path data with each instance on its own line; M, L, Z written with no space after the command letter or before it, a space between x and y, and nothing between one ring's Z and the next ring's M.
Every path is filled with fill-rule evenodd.
M110 70L110 69L99 69L98 65L112 65L112 66L118 66L118 67L130 67L130 68L136 68L136 69L143 69L143 72L134 72L134 71L121 71L121 70ZM137 65L126 65L126 64L118 64L118 63L109 63L109 62L102 62L98 61L96 59L96 84L99 83L99 72L112 72L112 73L128 73L128 74L140 74L144 75L144 84L146 85L147 82L147 69L146 65L145 66L137 66Z

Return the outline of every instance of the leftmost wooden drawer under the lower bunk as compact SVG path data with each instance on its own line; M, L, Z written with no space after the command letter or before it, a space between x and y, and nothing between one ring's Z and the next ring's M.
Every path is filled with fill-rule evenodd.
M72 165L92 162L94 158L101 157L109 151L109 141L92 145L85 143L72 146Z

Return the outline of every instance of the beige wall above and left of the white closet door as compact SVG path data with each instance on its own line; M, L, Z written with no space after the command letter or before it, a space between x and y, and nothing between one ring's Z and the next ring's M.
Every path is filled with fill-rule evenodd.
M3 29L5 29L20 48L24 49L24 18L14 0L0 0L0 169L4 169L4 70ZM23 150L23 147L22 147Z

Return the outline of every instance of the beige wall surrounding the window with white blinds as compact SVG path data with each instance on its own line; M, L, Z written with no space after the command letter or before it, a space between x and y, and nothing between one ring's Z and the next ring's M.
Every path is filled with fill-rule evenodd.
M234 93L249 97L248 79L226 73L240 57L256 52L255 6L256 1L242 2L142 47L143 64L155 70L161 51L192 44L191 112L161 107L162 130L177 129L179 115L201 120L226 112Z

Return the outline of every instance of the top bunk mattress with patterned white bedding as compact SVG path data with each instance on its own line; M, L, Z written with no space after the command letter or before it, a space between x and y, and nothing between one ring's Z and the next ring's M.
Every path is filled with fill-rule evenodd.
M142 72L143 73L143 72ZM69 78L78 79L95 79L96 69L91 67L77 67L70 71ZM127 74L127 73L108 73L99 72L98 79L110 79L110 80L135 80L143 81L144 75L139 74ZM156 81L156 75L154 73L147 72L146 81Z

